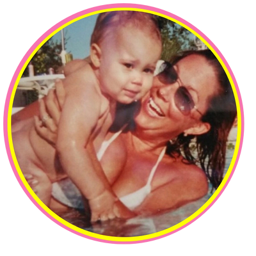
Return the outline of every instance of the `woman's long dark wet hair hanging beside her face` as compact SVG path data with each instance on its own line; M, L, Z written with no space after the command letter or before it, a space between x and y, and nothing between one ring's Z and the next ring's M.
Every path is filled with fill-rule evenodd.
M236 101L227 74L212 51L183 52L173 60L173 65L189 55L203 56L218 78L218 93L208 100L208 109L201 117L202 122L211 124L211 129L197 136L180 134L172 144L168 143L167 153L174 156L181 150L189 163L199 163L216 189L223 179L227 138L237 115ZM195 141L198 159L193 156L192 141Z

